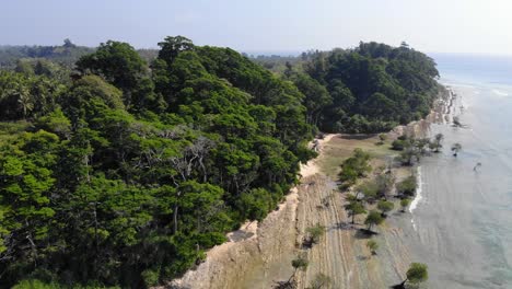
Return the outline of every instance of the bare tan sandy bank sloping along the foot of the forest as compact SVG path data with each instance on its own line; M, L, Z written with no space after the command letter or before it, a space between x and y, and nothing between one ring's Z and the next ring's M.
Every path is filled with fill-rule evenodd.
M334 136L317 140L321 153ZM318 173L316 160L301 165L302 182ZM299 193L303 189L302 185L294 187L261 223L247 222L228 234L229 242L211 248L197 269L173 280L167 288L270 288L274 280L288 279L295 256ZM235 240L233 235L246 238Z

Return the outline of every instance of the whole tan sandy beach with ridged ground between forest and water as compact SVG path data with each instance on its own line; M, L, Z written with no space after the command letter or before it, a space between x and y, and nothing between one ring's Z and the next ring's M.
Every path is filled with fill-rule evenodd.
M381 244L377 256L366 247L368 236L361 235L363 218L354 227L344 209L345 196L335 183L339 164L353 149L362 148L374 158L373 167L384 165L396 154L389 142L402 134L426 137L432 122L443 122L450 103L446 94L440 97L432 113L424 119L400 126L391 131L387 144L376 146L376 136L327 135L318 139L319 155L301 165L301 183L294 187L276 211L261 222L247 222L230 233L230 242L208 252L207 259L170 288L272 288L276 281L287 280L293 273L291 261L306 254L310 266L296 275L298 288L305 288L318 273L329 276L331 288L384 288L400 282L414 261L407 228L411 213L395 211L377 230ZM416 167L394 169L397 181ZM411 211L421 204L417 196ZM396 206L398 207L398 206ZM322 241L311 250L300 244L309 227L327 228ZM406 229L404 229L406 227ZM414 230L414 229L412 229ZM237 238L232 238L236 235Z

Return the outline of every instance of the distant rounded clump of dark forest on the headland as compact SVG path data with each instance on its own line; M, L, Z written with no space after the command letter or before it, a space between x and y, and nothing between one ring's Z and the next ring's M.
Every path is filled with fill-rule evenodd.
M360 43L353 49L304 53L294 61L254 61L293 81L305 95L309 123L323 131L389 130L426 116L439 90L435 62L406 43L396 48Z

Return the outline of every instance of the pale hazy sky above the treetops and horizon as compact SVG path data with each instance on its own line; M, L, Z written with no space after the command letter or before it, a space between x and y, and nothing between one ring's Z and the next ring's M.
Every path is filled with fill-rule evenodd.
M156 47L184 35L245 51L406 41L429 53L512 55L510 0L0 0L0 44Z

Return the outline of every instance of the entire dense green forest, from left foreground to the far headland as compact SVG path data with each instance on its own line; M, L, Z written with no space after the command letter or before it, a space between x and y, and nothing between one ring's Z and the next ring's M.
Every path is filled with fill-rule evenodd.
M435 96L433 61L406 46L312 53L281 74L182 36L159 46L0 71L0 287L179 276L276 208L318 128L387 129Z

